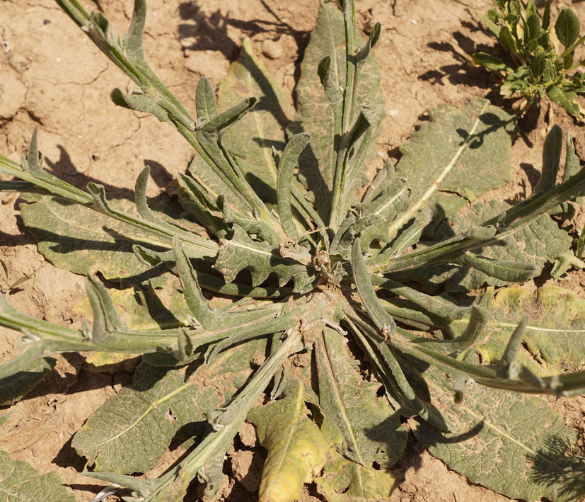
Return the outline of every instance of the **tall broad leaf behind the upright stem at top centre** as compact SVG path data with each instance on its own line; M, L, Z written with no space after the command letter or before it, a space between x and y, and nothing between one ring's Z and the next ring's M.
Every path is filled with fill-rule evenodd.
M360 40L359 36L358 39L357 45L362 45L364 41ZM296 86L299 108L296 118L301 120L302 130L311 134L311 143L301 155L301 173L306 176L308 187L315 193L316 204L320 210L328 204L333 181L335 152L332 146L333 112L321 86L317 67L321 59L331 56L332 80L337 88L344 86L344 43L341 11L334 2L320 4L317 25L311 33L311 40L305 50L301 63L301 78ZM376 61L370 56L360 73L356 117L359 115L359 105L371 106L374 137L384 108L380 79ZM295 130L295 132L298 131ZM368 164L369 158L366 157L362 166ZM359 185L361 181L363 178L357 176L356 185Z

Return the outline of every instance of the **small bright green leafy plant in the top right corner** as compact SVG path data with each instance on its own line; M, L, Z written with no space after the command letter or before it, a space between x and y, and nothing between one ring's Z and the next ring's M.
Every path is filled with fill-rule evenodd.
M509 51L515 66L485 52L475 52L473 62L504 76L502 94L521 96L521 113L526 105L538 103L548 96L572 115L581 115L577 94L585 92L584 75L575 71L583 66L574 61L575 50L585 41L579 37L581 23L570 8L563 8L555 23L555 41L550 25L550 2L540 16L532 0L494 0L498 10L490 9L482 17ZM556 41L562 45L558 50ZM571 73L572 72L572 73Z

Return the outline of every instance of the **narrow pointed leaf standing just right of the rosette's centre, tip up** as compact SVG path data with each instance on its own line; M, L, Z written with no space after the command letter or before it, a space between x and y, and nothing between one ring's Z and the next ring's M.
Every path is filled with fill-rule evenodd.
M361 302L370 314L376 327L383 331L385 336L392 336L392 333L396 327L392 316L383 309L376 291L373 289L371 283L370 273L366 266L364 256L361 254L361 245L359 239L354 241L352 246L352 271L354 275L354 283L357 287L357 292Z

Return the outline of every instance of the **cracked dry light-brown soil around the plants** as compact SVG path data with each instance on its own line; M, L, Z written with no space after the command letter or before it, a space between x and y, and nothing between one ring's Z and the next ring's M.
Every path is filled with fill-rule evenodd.
M131 0L86 0L88 10L103 11L123 33L132 12ZM553 2L553 17L570 6L585 19L585 4ZM358 0L359 29L368 31L380 21L384 31L375 56L386 95L384 130L378 139L378 166L398 154L427 108L439 103L463 105L488 97L506 105L484 70L470 65L475 50L493 50L494 39L482 28L479 14L488 0ZM317 15L318 0L149 0L144 40L154 71L183 103L195 108L195 84L206 74L213 86L226 75L245 36L267 69L294 99L299 62ZM185 171L192 150L170 127L156 118L116 108L111 89L132 89L121 74L51 0L0 1L0 148L20 159L35 126L45 167L57 177L85 188L103 183L110 196L129 193L144 165L151 166L154 183L149 197L168 197L172 180ZM556 122L577 138L585 159L581 127L555 108ZM514 143L513 164L521 166L506 187L482 198L519 200L538 179L543 132L548 115L535 110L521 120ZM0 256L9 277L2 284L26 277L9 301L27 314L63 325L80 326L73 310L83 299L83 278L52 266L37 252L23 228L18 195L0 194ZM582 226L583 217L579 222ZM578 216L578 217L579 217ZM540 285L540 284L539 284ZM585 297L585 273L571 272L561 287ZM0 329L0 363L18 351L16 333ZM41 473L56 471L78 501L90 501L103 484L82 477L86 459L71 448L71 436L108 397L131 380L132 367L113 374L91 372L83 354L57 356L57 367L16 406L0 435L0 448L14 459L30 462ZM301 364L300 362L299 364ZM126 371L128 370L128 371ZM567 425L580 433L585 446L585 397L551 399ZM168 452L152 474L160 474L180 456ZM224 484L218 501L253 501L265 453L253 426L246 424L228 450ZM422 450L413 438L397 466L404 482L393 500L402 502L507 501L508 498L470 484ZM194 490L190 500L201 497ZM110 496L108 501L120 500ZM323 500L306 491L303 501Z

